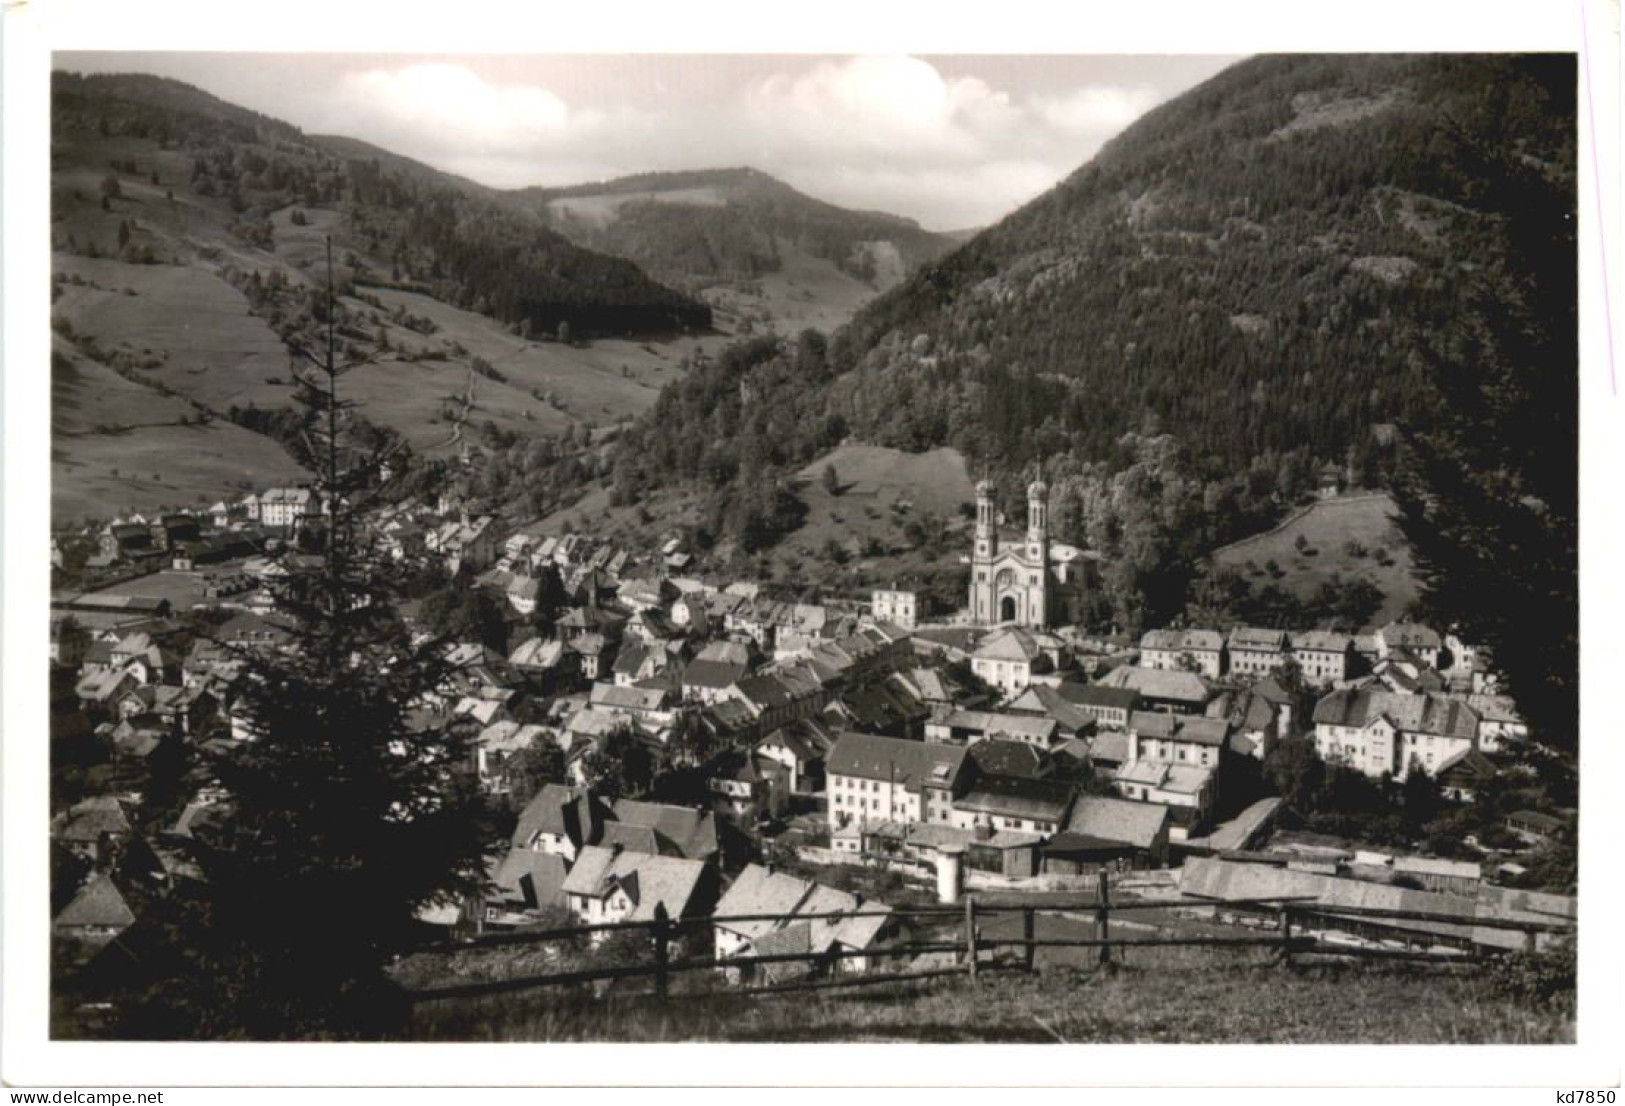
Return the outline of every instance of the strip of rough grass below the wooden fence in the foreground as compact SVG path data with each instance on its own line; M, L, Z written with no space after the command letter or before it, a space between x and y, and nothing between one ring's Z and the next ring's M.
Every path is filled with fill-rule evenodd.
M546 992L419 1009L442 1041L1571 1043L1571 1005L1521 1005L1482 971L1284 968L1268 953L1173 950L1115 970L990 973L853 991L611 1000Z

